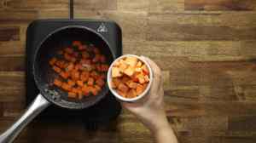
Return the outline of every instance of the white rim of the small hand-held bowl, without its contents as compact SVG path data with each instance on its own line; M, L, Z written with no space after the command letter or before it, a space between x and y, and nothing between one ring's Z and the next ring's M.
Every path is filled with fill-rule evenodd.
M113 65L114 65L114 63L115 63L116 61L118 61L118 60L120 60L120 59L123 59L123 58L125 58L125 57L136 57L138 60L143 61L143 63L148 67L148 71L149 71L149 83L148 83L147 88L143 91L142 94L139 94L139 95L138 95L137 97L135 97L135 98L125 98L125 97L119 95L119 94L115 91L115 89L113 89L113 88L111 87L111 82L112 82L112 67L113 67ZM134 102L134 101L136 101L136 100L139 100L139 99L143 98L143 96L148 93L148 91L149 91L149 89L150 89L150 87L151 87L152 81L153 81L153 71L152 71L151 67L149 66L148 62L147 62L146 60L143 60L143 58L141 58L141 57L139 57L139 56L137 56L137 55L134 55L134 54L125 54L125 55L120 56L119 58L117 58L116 60L113 61L113 63L111 64L111 66L109 66L109 69L108 69L108 88L110 89L110 91L112 92L112 94L113 94L117 99L119 99L119 100L121 100L121 101Z

